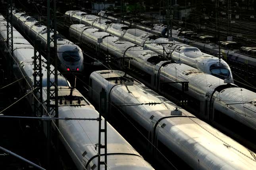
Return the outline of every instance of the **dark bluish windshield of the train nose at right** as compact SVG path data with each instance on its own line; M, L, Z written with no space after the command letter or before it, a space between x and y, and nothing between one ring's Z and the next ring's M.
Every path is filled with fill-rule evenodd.
M213 76L219 77L221 79L225 79L230 75L228 67L224 64L212 64L212 66L210 66L210 71Z

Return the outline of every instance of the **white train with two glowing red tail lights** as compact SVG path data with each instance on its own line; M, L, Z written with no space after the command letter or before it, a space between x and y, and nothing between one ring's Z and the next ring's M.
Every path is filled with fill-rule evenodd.
M13 10L13 25L20 28L31 40L41 40L42 48L47 51L47 27L26 13ZM53 32L50 36L53 36ZM53 38L53 37L52 37ZM53 47L53 42L51 47ZM57 35L57 56L62 73L83 71L83 53L77 45L60 34Z

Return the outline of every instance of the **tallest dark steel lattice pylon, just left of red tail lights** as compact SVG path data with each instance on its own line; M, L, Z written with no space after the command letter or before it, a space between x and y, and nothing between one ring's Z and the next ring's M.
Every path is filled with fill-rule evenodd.
M53 4L52 4L53 3ZM53 6L53 10L51 8ZM51 15L53 11L53 15ZM53 34L52 34L53 33ZM51 64L54 67L50 67ZM55 99L54 104L50 104L51 99ZM47 0L47 113L59 117L58 112L58 57L57 57L57 26L56 26L56 0ZM58 128L59 121L55 124ZM47 167L50 165L50 145L51 145L51 121L47 121ZM56 130L58 136L58 130ZM58 139L58 137L57 137ZM58 140L56 141L58 152ZM58 154L58 153L57 153ZM58 162L57 162L58 165Z

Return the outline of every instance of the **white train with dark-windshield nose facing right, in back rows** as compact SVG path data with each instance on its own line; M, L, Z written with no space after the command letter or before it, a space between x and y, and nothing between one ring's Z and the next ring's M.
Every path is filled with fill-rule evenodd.
M161 38L137 28L129 28L123 24L112 23L110 20L100 19L100 17L81 11L67 11L65 17L67 20L71 20L71 22L75 21L104 30L114 36L166 56L168 59L181 60L184 64L197 68L207 74L212 74L221 79L228 78L231 81L233 79L231 70L224 60L202 53L198 48L191 47L190 45L169 42L167 38Z

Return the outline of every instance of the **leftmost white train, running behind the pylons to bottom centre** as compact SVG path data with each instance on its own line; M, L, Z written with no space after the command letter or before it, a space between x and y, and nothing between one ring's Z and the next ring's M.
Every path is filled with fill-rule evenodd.
M2 52L5 49L6 33L6 21L1 15L0 42ZM13 28L13 58L16 61L13 70L17 79L24 76L23 81L19 81L22 93L33 89L34 70L31 67L34 62L33 56L33 46ZM47 72L44 64L42 64L42 68L43 106L46 108ZM98 111L90 102L79 91L70 88L69 82L61 75L58 75L58 97L60 118L99 117ZM35 100L32 95L28 95L28 99L30 104ZM51 100L51 104L54 102ZM45 111L44 114L46 114ZM53 123L52 126L56 129ZM98 143L98 127L98 121L59 120L60 140L79 170L98 168L98 149L95 147ZM102 127L104 127L104 121L102 121ZM109 123L107 123L106 128L108 129L108 169L153 170L152 166ZM101 155L102 160L104 160L104 155L105 153ZM101 166L100 169L104 169L104 167Z

